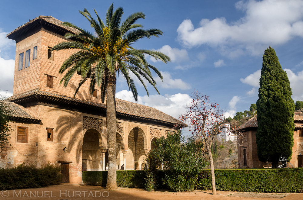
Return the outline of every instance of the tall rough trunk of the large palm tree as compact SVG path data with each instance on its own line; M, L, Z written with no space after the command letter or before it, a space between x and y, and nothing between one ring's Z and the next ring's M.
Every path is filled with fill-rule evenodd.
M106 129L108 151L108 174L106 189L117 189L117 157L116 157L116 77L109 71L105 72L108 80L106 85Z

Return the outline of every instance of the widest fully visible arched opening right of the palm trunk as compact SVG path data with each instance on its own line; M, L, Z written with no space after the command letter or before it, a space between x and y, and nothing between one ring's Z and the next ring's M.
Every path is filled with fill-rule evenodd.
M139 170L145 156L145 133L135 127L128 134L128 151L126 154L126 168ZM125 167L125 166L124 166Z

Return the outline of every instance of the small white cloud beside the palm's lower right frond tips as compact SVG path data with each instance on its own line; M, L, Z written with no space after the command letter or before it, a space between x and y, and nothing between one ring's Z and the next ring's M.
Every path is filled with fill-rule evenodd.
M181 90L191 89L191 85L182 81L181 79L172 79L169 72L161 72L161 74L163 76L163 82L159 77L155 77L157 85L159 85L161 88L173 88Z

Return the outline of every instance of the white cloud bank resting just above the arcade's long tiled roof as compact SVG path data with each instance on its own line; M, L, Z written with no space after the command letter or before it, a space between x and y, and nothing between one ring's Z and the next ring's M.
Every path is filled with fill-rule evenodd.
M122 90L116 93L116 98L126 101L135 102L132 92ZM179 118L180 115L185 113L184 106L192 101L188 94L174 94L174 95L150 95L139 96L138 103L149 107L156 108L174 118Z

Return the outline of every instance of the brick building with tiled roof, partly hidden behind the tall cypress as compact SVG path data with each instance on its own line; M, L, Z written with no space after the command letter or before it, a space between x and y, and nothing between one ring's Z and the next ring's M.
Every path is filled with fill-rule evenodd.
M292 147L291 160L285 163L288 167L302 167L303 156L303 113L295 112L294 146ZM258 129L257 116L241 124L237 128L241 131L238 136L238 164L240 168L265 168L268 163L261 162L257 155L256 132ZM269 165L271 165L269 163Z

